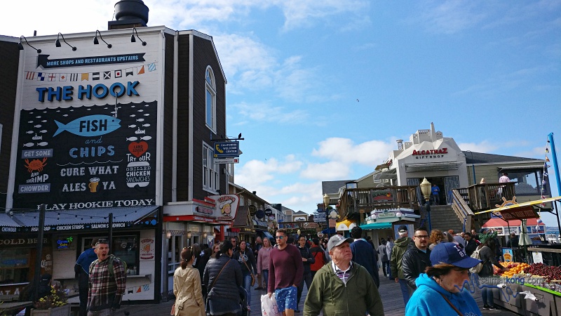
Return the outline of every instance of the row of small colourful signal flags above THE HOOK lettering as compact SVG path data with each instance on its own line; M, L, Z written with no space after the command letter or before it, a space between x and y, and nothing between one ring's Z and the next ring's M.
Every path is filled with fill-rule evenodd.
M156 71L156 62L138 67L103 72L72 72L65 74L58 72L25 72L25 79L36 81L98 81L138 76L146 72L154 71Z

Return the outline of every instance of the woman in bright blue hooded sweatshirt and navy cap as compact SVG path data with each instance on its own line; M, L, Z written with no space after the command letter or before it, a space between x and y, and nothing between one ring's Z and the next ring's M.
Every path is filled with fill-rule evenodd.
M433 266L415 281L417 290L405 307L405 315L481 316L471 292L462 291L469 279L469 268L480 262L466 255L457 244L437 244L431 252Z

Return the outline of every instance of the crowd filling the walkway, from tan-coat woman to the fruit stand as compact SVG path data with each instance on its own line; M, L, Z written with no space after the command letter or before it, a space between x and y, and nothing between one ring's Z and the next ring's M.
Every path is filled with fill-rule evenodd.
M483 308L499 309L490 289L479 282L492 275L492 265L508 270L497 260L496 233L420 227L410 237L405 225L397 231L395 242L388 236L377 246L355 227L351 237L295 239L280 229L275 246L268 238L258 237L250 246L232 237L212 250L183 249L173 277L175 315L245 315L251 311L251 291L262 290L276 299L278 312L292 316L301 312L304 285L303 315L384 315L380 268L400 285L405 315L482 315L465 287L470 269L480 263L471 279L481 289Z

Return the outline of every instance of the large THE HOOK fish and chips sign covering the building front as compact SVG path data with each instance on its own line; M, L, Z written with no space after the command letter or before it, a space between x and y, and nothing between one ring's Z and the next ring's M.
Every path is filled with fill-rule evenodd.
M156 205L160 32L147 46L107 38L111 49L92 37L21 51L14 209Z

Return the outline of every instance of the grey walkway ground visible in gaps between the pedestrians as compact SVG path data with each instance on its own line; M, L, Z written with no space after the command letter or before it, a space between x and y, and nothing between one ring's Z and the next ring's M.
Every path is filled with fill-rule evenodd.
M380 288L381 300L384 303L384 312L386 316L403 316L405 315L405 305L403 304L403 296L399 284L389 280L384 275L380 275ZM250 316L261 315L261 296L266 294L264 290L251 290L251 312ZM299 310L304 311L304 301L308 291L304 287L302 292L302 299L298 305ZM478 303L482 314L485 316L512 316L517 315L508 310L483 310L483 302L479 289L475 290L473 294L475 301ZM122 305L116 316L129 315L129 316L164 316L170 315L171 305L173 301L168 301L160 304L142 304L142 305ZM296 315L302 315L302 312Z

